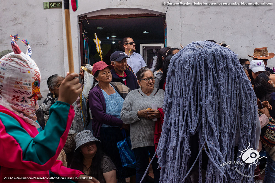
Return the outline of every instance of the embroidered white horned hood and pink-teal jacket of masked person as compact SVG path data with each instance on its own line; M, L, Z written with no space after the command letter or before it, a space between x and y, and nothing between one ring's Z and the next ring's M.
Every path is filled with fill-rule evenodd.
M73 106L61 101L53 104L48 124L41 131L35 115L40 71L30 57L30 47L25 55L16 40L17 35L11 41L14 52L0 59L0 182L4 177L44 177L39 182L49 182L46 177L52 176L78 177L81 171L56 160L71 127Z

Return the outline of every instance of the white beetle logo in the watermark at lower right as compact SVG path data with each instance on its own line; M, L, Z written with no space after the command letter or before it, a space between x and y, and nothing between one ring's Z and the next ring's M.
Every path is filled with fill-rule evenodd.
M249 142L248 142L248 143L249 143ZM249 143L249 146L250 146L250 143ZM245 149L245 150L243 150L243 151L239 150L239 151L242 152L242 153L241 153L241 155L238 156L238 157L241 157L241 156L242 156L242 160L243 160L245 163L250 164L250 165L249 165L249 167L250 167L251 165L256 164L256 163L259 161L259 159L261 159L261 158L263 158L263 157L265 157L265 156L260 157L259 152L256 151L256 150L254 150L253 148L249 148L249 146L247 147L247 149ZM260 158L259 158L259 157L260 157ZM266 158L266 157L265 157L265 158ZM256 160L256 162L255 162L255 160Z

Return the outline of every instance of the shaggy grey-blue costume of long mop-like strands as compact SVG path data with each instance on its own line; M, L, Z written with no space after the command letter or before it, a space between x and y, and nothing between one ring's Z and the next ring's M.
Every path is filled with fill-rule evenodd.
M191 156L199 161L202 182L203 148L209 157L207 183L254 182L236 170L254 175L256 165L249 167L242 157L237 158L240 164L221 166L234 162L235 146L245 150L250 143L257 150L259 143L256 96L234 52L209 41L180 50L170 61L164 111L157 151L160 182L190 182ZM192 142L194 135L198 140ZM235 158L241 155L237 152Z

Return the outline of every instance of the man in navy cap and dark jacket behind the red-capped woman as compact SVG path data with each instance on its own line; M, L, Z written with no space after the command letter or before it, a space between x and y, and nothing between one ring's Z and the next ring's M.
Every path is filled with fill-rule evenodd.
M130 90L138 89L138 81L130 70L127 70L127 60L129 58L122 51L115 51L110 57L111 64L115 69L111 70L112 82L121 82L125 84Z

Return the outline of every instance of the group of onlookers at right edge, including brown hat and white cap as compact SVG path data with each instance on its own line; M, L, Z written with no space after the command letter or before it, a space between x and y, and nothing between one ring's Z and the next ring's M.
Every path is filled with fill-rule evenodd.
M249 78L249 81L251 81L251 84L254 88L256 97L258 99L258 106L259 106L259 118L260 118L260 124L261 124L261 135L264 135L264 133L267 130L267 124L269 124L269 120L275 118L275 111L272 110L272 106L274 107L275 104L275 73L274 71L267 67L267 61L270 58L274 57L274 53L269 53L267 51L267 48L255 48L254 55L250 56L253 60L249 61L247 59L239 59L240 63L243 65L244 70L247 74L247 77ZM260 102L263 101L263 102ZM266 150L266 161L267 166L265 170L265 176L264 181L261 179L261 176L259 175L259 165L257 166L255 170L255 182L274 182L275 177L275 151L272 145L270 144L264 144L262 145L262 142L259 142L259 149L258 152L261 150Z

